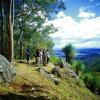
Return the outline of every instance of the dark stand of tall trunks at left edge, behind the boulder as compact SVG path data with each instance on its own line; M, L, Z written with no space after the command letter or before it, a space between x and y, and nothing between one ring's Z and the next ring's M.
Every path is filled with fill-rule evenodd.
M14 0L0 0L0 53L10 62L13 59L13 5Z

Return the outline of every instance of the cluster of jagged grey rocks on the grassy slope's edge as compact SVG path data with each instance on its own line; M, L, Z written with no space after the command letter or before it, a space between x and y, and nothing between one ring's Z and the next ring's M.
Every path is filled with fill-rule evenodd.
M54 66L51 69L51 73L48 72L45 68L39 67L38 72L40 72L42 75L47 77L48 79L51 79L54 81L55 84L59 84L59 78L66 78L67 76L70 76L72 78L78 79L79 77L76 75L76 73L71 70L71 65L62 60L59 66ZM62 72L60 68L63 68L64 71Z

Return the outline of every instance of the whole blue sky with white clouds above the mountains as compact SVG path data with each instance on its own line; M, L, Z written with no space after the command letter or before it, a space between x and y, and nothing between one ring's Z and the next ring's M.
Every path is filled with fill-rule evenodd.
M49 21L58 31L50 35L55 46L100 48L100 0L63 0L66 10Z

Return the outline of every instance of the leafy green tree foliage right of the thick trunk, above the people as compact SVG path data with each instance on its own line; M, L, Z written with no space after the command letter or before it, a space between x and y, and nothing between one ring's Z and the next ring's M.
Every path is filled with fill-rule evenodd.
M48 33L55 29L52 25L43 28L43 24L50 19L51 13L61 9L65 9L62 0L15 0L14 40L15 48L20 47L20 58L23 58L23 46L27 44L34 48L46 47L47 42L53 45Z

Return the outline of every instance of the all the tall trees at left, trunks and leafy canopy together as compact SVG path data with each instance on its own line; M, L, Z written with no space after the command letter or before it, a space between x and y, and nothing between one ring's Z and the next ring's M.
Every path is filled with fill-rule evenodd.
M27 45L32 52L36 48L51 51L54 44L49 35L56 29L45 23L52 18L52 13L64 9L62 0L0 0L0 53L11 61L13 41L15 58L25 57Z

